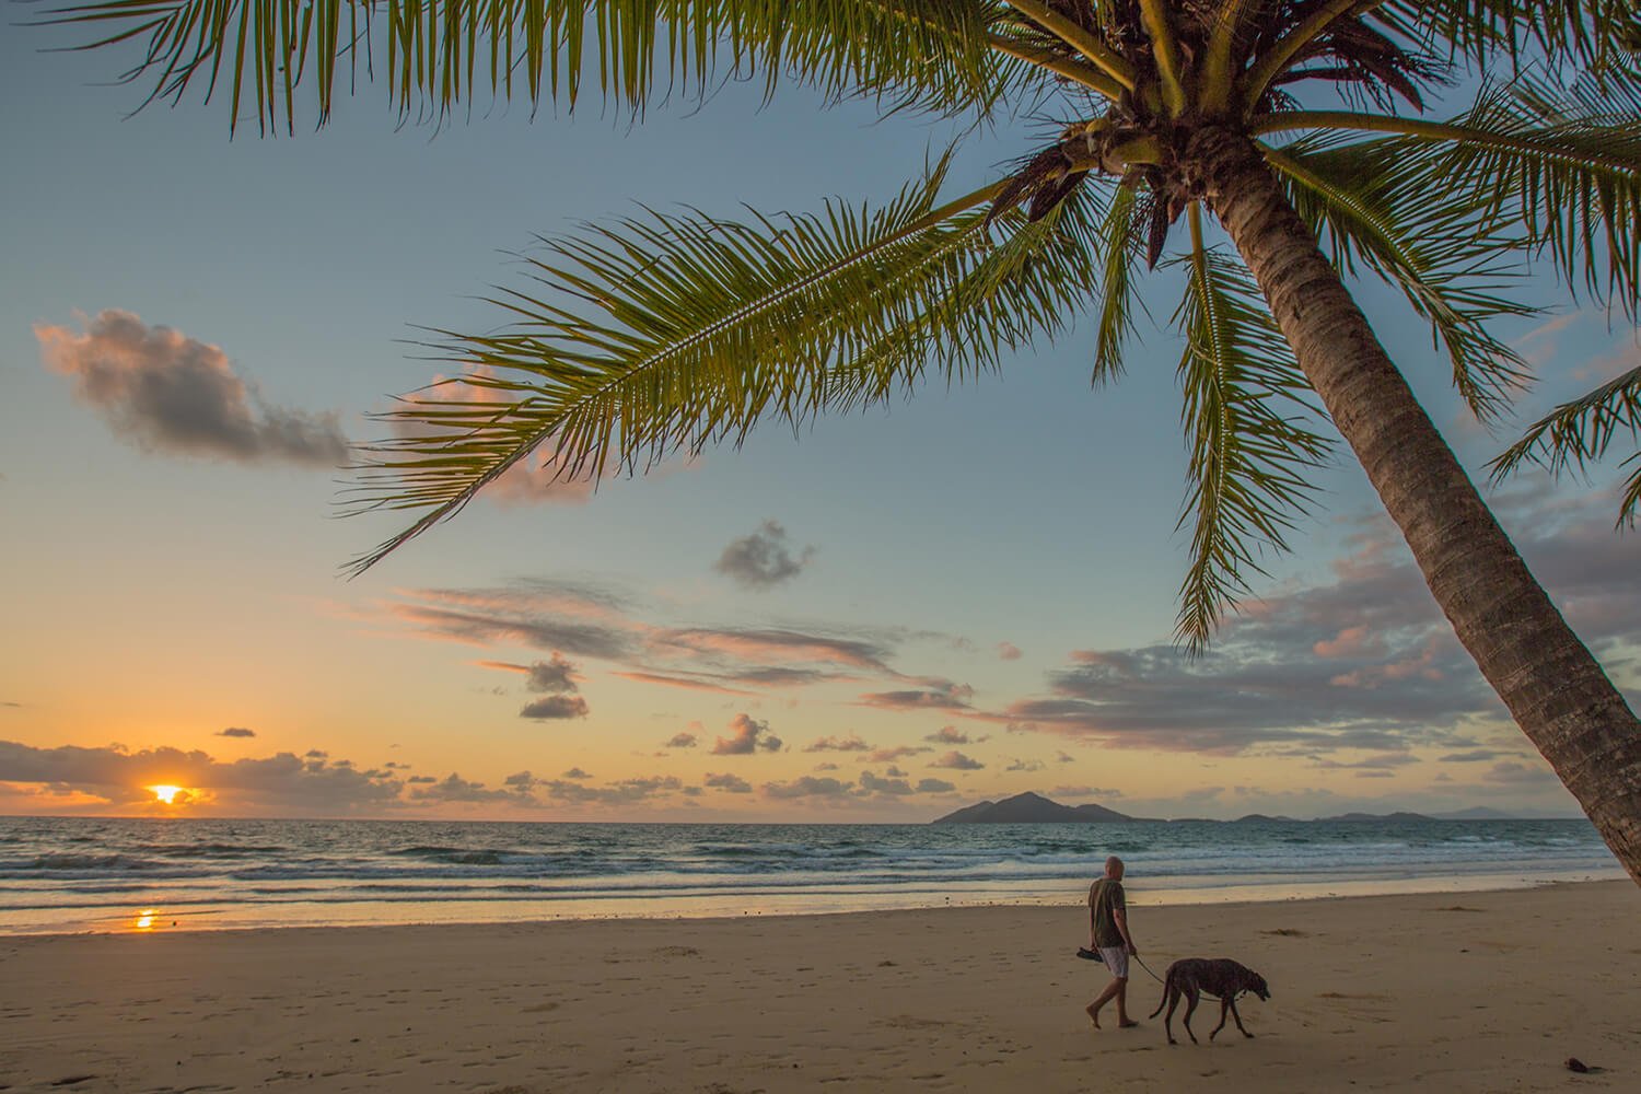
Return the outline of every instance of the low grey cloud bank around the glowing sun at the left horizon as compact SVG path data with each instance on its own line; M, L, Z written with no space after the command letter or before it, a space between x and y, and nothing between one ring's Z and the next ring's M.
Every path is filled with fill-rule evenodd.
M113 745L33 748L16 741L0 741L0 782L44 784L113 804L153 800L143 787L172 784L248 812L302 815L389 805L402 789L387 773L356 771L346 761L333 764L323 753L307 759L276 753L223 763L203 751L169 746L133 753Z

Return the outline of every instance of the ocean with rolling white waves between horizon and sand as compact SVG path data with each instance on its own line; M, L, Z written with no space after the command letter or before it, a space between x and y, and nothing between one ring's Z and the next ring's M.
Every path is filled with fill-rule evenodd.
M1623 877L1585 820L730 825L0 817L0 933L1136 904Z

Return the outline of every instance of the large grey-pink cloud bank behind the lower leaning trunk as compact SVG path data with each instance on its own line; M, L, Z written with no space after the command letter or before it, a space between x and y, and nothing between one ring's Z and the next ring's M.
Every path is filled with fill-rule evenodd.
M1588 499L1531 490L1493 505L1580 636L1623 666L1641 645L1633 541ZM1311 756L1465 748L1469 725L1506 722L1388 520L1351 546L1331 579L1244 605L1201 659L1083 650L1047 674L1047 695L970 717L1119 748Z

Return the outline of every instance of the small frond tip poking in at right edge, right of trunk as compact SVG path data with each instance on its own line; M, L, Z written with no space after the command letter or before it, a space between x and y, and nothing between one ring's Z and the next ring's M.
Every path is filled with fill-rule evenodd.
M1569 469L1587 471L1621 435L1641 441L1641 367L1556 407L1488 466L1495 482L1529 463L1556 476ZM1631 464L1636 469L1625 482L1625 497L1618 505L1620 528L1633 528L1641 513L1641 453L1630 456L1623 466Z

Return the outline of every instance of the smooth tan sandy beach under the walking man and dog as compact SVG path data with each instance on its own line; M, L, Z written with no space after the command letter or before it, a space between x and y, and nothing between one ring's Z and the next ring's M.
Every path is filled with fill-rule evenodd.
M1641 891L1147 907L1272 984L1244 1040L1095 1032L1085 912L0 938L10 1091L1551 1091L1641 1083ZM1108 1012L1109 1015L1109 1012ZM1575 1056L1595 1071L1574 1074Z

